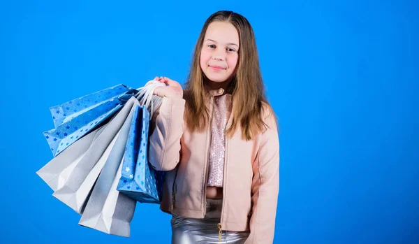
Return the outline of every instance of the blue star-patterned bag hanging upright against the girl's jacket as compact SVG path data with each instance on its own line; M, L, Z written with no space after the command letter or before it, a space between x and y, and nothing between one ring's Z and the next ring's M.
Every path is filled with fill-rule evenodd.
M149 110L137 106L131 122L117 190L140 203L160 203L163 171L148 162Z

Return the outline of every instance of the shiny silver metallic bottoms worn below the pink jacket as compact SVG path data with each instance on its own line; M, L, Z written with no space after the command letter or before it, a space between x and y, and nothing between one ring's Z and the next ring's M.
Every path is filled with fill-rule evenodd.
M204 219L172 215L172 244L242 244L249 231L219 231L223 199L207 199Z

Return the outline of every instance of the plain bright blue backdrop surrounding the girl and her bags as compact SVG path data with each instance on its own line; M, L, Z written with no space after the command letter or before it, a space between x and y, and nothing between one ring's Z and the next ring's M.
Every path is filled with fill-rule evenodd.
M418 243L417 1L8 2L1 243L170 243L157 205L137 206L131 238L78 226L35 173L52 159L42 132L50 106L98 89L183 83L203 22L221 9L253 25L281 122L274 243Z

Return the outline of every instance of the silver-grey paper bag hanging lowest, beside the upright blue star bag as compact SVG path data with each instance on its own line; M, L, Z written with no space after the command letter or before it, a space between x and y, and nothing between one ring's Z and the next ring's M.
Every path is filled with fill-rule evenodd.
M79 224L103 231L107 234L126 236L130 234L130 223L135 210L134 199L117 191L121 175L124 148L130 132L131 120L138 102L134 103L122 129L119 131L110 155L98 176Z

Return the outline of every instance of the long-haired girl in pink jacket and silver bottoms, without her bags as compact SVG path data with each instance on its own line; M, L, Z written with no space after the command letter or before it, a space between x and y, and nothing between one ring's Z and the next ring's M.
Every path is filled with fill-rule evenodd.
M163 101L149 162L167 171L160 208L172 214L172 243L272 243L279 136L247 19L207 19L184 90L155 80L166 87L154 90Z

